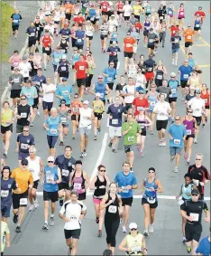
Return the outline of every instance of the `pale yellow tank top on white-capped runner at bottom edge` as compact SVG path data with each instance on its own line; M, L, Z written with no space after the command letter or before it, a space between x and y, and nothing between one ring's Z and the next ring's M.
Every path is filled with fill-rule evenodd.
M142 237L140 232L136 236L126 235L127 247L131 248L132 254L142 255Z

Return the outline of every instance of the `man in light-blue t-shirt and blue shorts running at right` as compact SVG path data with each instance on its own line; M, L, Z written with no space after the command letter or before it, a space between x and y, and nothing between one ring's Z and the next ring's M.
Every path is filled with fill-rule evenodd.
M176 159L176 166L174 169L175 173L178 173L179 158L184 147L184 140L187 136L186 128L183 124L180 123L180 117L175 117L175 123L170 125L169 128L170 134L170 163L173 162L174 158Z

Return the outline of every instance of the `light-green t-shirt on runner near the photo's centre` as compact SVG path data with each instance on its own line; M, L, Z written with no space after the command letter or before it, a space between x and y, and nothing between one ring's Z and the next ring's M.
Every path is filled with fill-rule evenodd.
M142 130L140 125L136 122L133 123L127 123L125 122L123 124L122 130L128 130L131 127L131 129L128 131L127 134L124 135L124 145L136 145L137 144L137 132L139 130Z

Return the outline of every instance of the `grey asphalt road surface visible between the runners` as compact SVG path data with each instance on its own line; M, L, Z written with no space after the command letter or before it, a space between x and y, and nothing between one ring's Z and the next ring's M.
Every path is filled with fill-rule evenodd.
M157 1L156 1L157 2ZM153 3L154 6L156 4ZM179 5L179 2L176 4ZM186 8L188 10L188 16L186 20L186 25L189 23L190 19L192 19L192 14L194 14L196 8L194 5L197 5L195 1L188 1L185 3ZM203 6L204 10L208 10L209 2L201 1L200 5ZM209 41L209 32L210 32L210 15L206 12L206 20L203 25L203 38L206 40L206 46L193 47L193 52L197 63L200 65L205 65L210 63L210 48L208 47ZM123 37L125 35L126 29L124 26L121 27L119 31L119 42L122 46ZM197 44L199 44L197 42ZM200 44L203 44L200 41ZM204 43L205 44L205 43ZM96 33L94 36L94 43L91 47L92 52L94 53L96 59L96 71L95 77L93 81L96 81L96 75L101 73L104 68L107 66L107 55L101 52L100 47L100 39L99 33ZM68 56L70 57L70 52ZM138 48L139 54L147 55L147 50L142 47L142 43ZM120 70L118 74L124 73L124 57L123 54L120 56ZM178 68L171 66L170 61L170 43L169 43L169 35L167 36L167 43L165 48L159 48L159 52L155 57L156 61L162 60L166 68L168 69L168 74L170 75L171 71L177 71ZM179 63L182 63L184 60L184 55L182 51L179 53ZM210 81L210 69L203 68L203 81ZM44 75L50 75L53 79L53 71L50 66L47 71L44 71ZM170 77L170 76L168 76ZM69 80L71 83L71 80ZM76 87L73 88L75 92L77 90ZM86 95L85 99L93 100L92 95ZM57 100L55 100L55 106L57 106ZM181 101L181 96L179 97L177 103L177 112L180 115L185 114L184 102ZM37 117L34 122L34 127L30 128L32 135L35 137L35 143L37 150L37 156L41 156L42 159L46 162L48 150L47 150L47 139L46 132L42 129L43 115L41 117ZM91 176L95 171L96 163L102 162L107 169L108 175L112 180L115 177L115 173L121 170L122 164L125 160L124 150L120 147L120 150L117 154L113 154L111 149L106 147L105 154L103 155L101 151L103 151L104 147L102 146L104 143L108 143L108 139L106 139L108 132L108 128L106 126L107 119L104 118L102 122L102 131L98 134L98 140L94 141L94 132L92 131L89 145L87 148L87 156L83 159L84 170L87 171L88 175ZM210 166L210 140L207 139L210 134L210 126L209 123L206 125L206 128L200 130L198 137L198 144L193 146L193 154L191 163L194 162L194 155L197 152L201 152L204 155L203 164L205 166ZM6 162L9 166L16 167L17 166L17 154L14 152L15 149L15 134L12 137L11 148L8 153L8 158ZM79 136L77 135L76 140L73 141L71 139L71 128L69 130L69 136L65 138L65 145L71 145L73 147L73 156L78 158L79 156ZM63 147L57 147L57 155L63 152ZM101 152L101 154L100 154ZM188 166L183 156L181 157L180 165L179 165L179 173L175 174L173 172L174 166L170 166L170 155L169 155L169 143L167 147L159 147L158 146L158 137L155 132L153 136L150 134L146 137L145 142L145 155L141 159L140 156L135 153L134 160L134 173L137 177L139 185L142 183L142 179L147 175L147 169L150 166L154 166L157 170L157 175L161 180L161 184L163 185L163 195L166 195L165 199L159 200L159 207L156 211L156 219L154 223L155 232L147 238L147 247L148 253L150 255L184 255L186 254L186 247L181 243L181 218L179 215L179 204L177 204L176 200L171 199L170 196L177 195L179 193L180 185L183 184L183 175L188 170ZM41 187L39 189L41 191ZM134 194L138 194L136 191ZM209 196L210 189L209 185L206 186L206 196ZM167 199L168 198L168 199ZM12 222L12 218L9 219L9 227L11 231L12 244L11 248L5 251L5 255L67 255L67 246L64 239L63 234L63 223L58 216L58 212L60 210L60 205L57 204L57 212L55 217L55 226L50 227L48 232L43 232L41 227L43 225L43 202L42 196L38 197L40 207L33 213L27 213L22 233L16 234L14 232L15 225ZM210 206L210 202L207 202ZM78 242L78 255L96 255L101 254L102 251L106 248L105 242L105 231L103 230L102 238L97 238L97 225L95 223L95 213L94 206L92 203L91 196L87 196L86 203L87 204L87 215L85 220L82 222L82 233L81 238ZM139 230L143 232L143 211L142 204L140 198L135 198L133 200L133 207L130 214L129 222L138 223ZM203 222L203 233L202 237L208 234L209 225ZM117 245L124 238L124 234L122 233L122 228L120 226L119 231L117 233ZM116 249L115 254L121 255L121 251Z

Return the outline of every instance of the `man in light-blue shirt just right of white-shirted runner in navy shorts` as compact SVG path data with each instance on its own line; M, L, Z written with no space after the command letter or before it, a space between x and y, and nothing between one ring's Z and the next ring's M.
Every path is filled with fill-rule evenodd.
M66 106L69 107L71 100L71 93L72 93L72 86L67 84L67 78L63 77L62 78L62 83L58 86L55 96L59 98L59 105L60 105L60 100L66 100Z

